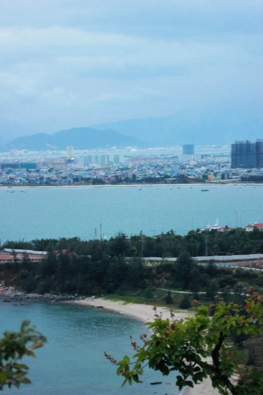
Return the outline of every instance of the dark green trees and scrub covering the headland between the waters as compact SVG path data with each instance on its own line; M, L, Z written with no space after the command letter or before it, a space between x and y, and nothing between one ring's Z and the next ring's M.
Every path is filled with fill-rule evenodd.
M262 291L263 274L242 268L216 266L213 261L198 264L193 256L205 254L205 233L189 232L178 236L173 231L157 237L126 237L119 234L109 240L82 241L42 239L32 242L6 242L3 248L49 251L41 262L33 263L27 255L2 265L1 276L26 292L50 291L70 294L140 295L156 300L157 289L187 291L192 298L213 300L217 292L240 294L253 285ZM263 232L207 232L209 255L250 254L263 252ZM145 264L144 256L176 256L159 264ZM55 251L55 252L54 252ZM5 271L5 274L3 273ZM160 296L159 296L160 298Z

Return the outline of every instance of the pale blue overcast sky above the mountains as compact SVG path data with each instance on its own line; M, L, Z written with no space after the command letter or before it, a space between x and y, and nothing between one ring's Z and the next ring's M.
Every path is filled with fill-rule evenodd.
M259 108L262 30L262 0L0 0L0 119L53 132Z

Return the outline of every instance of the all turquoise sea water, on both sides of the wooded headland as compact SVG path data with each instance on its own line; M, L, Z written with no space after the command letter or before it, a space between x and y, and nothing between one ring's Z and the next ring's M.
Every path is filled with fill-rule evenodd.
M27 188L26 193L0 189L2 240L94 237L102 223L106 237L118 231L141 230L148 235L171 229L185 234L219 217L223 225L263 222L262 186L152 186L112 188ZM10 191L11 189L9 189ZM139 338L144 325L125 315L72 305L13 306L0 302L0 332L18 329L30 319L48 338L28 360L33 384L10 395L168 395L174 385L151 386L151 381L174 382L148 371L143 384L120 387L121 379L103 352L117 358L133 354L129 334ZM176 374L175 374L176 375Z

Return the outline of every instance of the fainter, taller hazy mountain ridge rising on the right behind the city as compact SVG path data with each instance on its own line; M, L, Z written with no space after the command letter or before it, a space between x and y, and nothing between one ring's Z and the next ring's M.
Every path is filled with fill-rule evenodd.
M150 147L231 144L235 140L263 138L263 115L259 109L235 106L219 108L200 105L185 108L164 117L131 119L93 125L101 130L112 128L129 136L142 138Z

